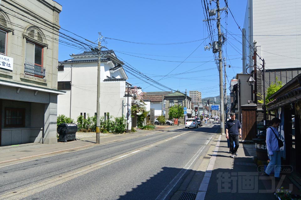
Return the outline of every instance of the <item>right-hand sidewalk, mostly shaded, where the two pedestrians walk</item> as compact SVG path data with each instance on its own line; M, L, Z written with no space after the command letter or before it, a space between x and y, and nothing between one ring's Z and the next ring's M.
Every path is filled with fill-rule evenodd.
M275 200L277 199L274 195L275 189L281 186L289 189L289 184L292 184L289 176L281 174L282 180L275 181L273 174L270 177L264 177L257 171L254 163L254 157L256 157L254 144L240 143L238 157L233 159L230 158L225 135L220 135L219 139L196 200ZM298 188L293 184L290 189L293 191L292 194L299 193Z

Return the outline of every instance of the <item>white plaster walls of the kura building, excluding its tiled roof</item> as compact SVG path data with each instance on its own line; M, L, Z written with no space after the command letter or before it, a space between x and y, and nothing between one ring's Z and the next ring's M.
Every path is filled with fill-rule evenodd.
M92 59L90 57L82 60ZM125 94L125 81L103 81L108 77L123 78L118 71L110 73L109 69L113 65L110 62L101 63L101 85L100 85L100 116L110 113L110 116L127 116L127 98ZM71 81L72 80L72 81ZM66 91L65 95L58 96L58 115L70 116L71 98L71 118L76 121L80 113L94 116L97 112L97 63L64 64L64 71L58 73L58 81L71 81L71 91ZM129 109L131 98L129 97ZM131 118L129 118L131 122ZM130 127L129 123L129 128Z

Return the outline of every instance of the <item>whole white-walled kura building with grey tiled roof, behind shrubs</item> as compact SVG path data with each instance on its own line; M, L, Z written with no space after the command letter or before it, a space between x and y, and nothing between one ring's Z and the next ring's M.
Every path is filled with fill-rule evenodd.
M131 97L125 95L126 88L131 87L122 65L114 51L102 51L100 60L100 116L109 113L113 117L127 118L127 100L129 99L129 116ZM65 95L58 98L58 115L65 115L77 120L83 115L94 116L97 113L97 68L98 56L92 52L72 54L71 59L59 62L58 90ZM131 118L129 117L129 129Z

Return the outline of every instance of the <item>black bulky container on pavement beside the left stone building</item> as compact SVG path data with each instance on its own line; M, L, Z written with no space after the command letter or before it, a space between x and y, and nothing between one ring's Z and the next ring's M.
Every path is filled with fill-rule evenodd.
M67 142L68 140L76 140L77 125L75 123L62 123L57 126L59 133L59 142Z

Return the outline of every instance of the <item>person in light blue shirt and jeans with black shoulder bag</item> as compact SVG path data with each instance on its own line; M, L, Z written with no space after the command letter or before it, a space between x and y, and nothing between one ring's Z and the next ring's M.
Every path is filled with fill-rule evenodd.
M280 180L280 170L281 170L281 154L280 148L278 146L279 138L278 127L281 120L279 118L272 119L272 126L267 128L267 152L269 153L270 163L267 165L267 169L264 175L270 175L274 171L275 180Z

